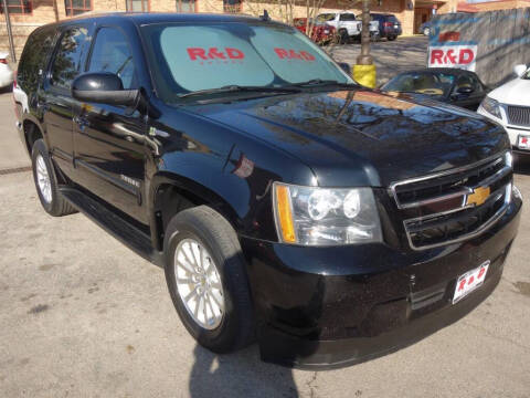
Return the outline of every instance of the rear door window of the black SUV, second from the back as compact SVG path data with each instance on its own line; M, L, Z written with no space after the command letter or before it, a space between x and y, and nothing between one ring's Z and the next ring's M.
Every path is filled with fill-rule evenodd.
M70 88L80 74L80 64L87 39L85 28L75 28L63 33L52 65L51 84Z

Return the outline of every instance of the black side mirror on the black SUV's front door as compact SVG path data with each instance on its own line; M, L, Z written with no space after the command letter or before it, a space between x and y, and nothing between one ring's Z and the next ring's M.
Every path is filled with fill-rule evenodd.
M86 73L72 84L72 96L82 102L131 106L138 94L138 90L124 90L121 78L114 73Z

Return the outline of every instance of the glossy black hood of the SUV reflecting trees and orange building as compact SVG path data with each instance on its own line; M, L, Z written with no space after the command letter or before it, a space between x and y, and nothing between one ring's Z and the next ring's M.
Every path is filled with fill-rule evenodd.
M197 105L189 111L252 135L309 166L318 185L382 186L509 148L502 127L451 105L369 90Z

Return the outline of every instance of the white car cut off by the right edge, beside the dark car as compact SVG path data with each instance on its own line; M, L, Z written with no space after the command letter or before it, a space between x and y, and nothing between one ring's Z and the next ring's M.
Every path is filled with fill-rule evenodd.
M488 93L477 112L506 128L515 151L530 155L530 69L513 72L517 78Z

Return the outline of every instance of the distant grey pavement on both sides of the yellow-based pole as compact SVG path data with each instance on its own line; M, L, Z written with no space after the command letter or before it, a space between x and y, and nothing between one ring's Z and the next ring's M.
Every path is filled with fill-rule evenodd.
M398 73L425 67L428 40L425 36L398 38L389 42L383 39L371 43L371 53L377 65L378 84L385 83ZM330 45L326 51L339 62L354 64L361 52L359 43Z

